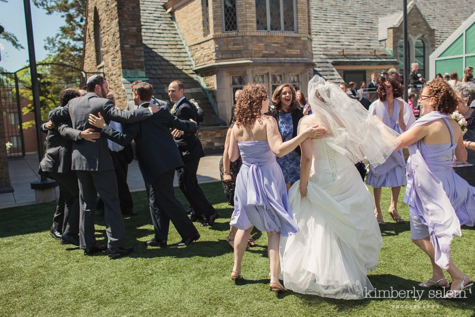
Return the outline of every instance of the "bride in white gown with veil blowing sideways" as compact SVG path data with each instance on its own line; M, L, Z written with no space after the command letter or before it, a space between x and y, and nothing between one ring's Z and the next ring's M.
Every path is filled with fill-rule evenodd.
M281 238L283 282L299 293L363 299L373 290L366 273L376 267L383 240L354 163L366 156L382 164L398 144L379 130L395 132L321 77L310 81L308 93L313 114L299 128L319 124L328 137L301 144L300 181L289 191L300 231Z

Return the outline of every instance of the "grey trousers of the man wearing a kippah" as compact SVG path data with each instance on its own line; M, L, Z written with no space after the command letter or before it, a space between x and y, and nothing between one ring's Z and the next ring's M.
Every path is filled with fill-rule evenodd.
M97 194L104 201L107 247L124 247L126 242L124 219L117 193L117 181L113 170L76 171L79 179L79 247L90 248L96 243L94 214Z

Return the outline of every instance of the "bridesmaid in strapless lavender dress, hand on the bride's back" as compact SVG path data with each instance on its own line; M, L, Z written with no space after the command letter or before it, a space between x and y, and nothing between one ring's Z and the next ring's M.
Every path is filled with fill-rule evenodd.
M269 96L263 84L249 83L236 103L231 131L230 160L241 154L243 165L236 178L234 214L230 225L238 228L234 237L234 266L231 279L241 279L241 262L252 226L266 231L269 239L270 289L286 290L278 280L280 235L298 231L287 198L286 182L275 156L283 156L306 138L321 138L325 129L308 127L295 138L282 142L277 122L264 115Z

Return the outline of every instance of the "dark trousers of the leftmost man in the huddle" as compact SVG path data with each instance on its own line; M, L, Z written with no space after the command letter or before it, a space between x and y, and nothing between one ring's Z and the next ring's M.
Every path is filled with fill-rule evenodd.
M79 187L76 172L42 172L42 174L56 180L59 186L60 198L53 218L53 228L61 231L62 234L77 236L79 233ZM62 220L59 219L61 216ZM62 227L59 227L60 223Z

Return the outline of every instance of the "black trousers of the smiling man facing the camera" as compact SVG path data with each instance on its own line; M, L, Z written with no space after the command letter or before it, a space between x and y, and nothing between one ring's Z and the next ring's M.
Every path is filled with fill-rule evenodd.
M200 159L184 162L185 166L177 170L178 186L193 208L195 215L198 217L204 215L207 219L214 214L216 210L208 202L208 199L206 199L206 196L198 185L196 173L199 164Z

